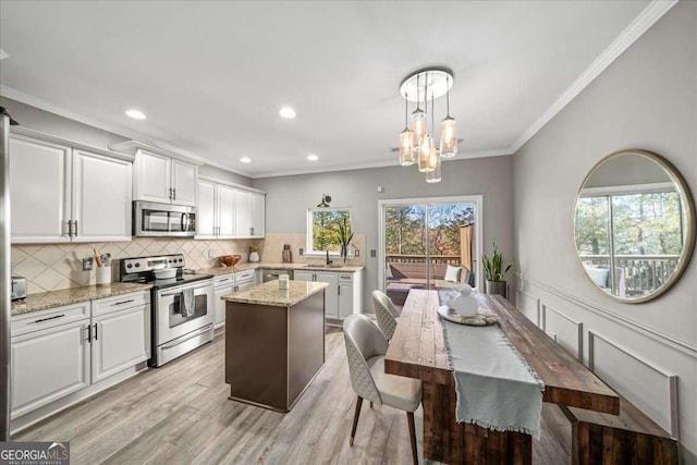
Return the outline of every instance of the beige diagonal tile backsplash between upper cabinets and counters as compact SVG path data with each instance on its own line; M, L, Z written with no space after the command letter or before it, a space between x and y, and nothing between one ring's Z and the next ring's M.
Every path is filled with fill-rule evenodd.
M83 244L13 244L11 253L12 273L27 280L27 293L80 287L95 284L96 271L83 271L82 259L110 253L112 277L119 279L119 260L147 255L183 254L186 268L200 269L220 265L221 255L242 255L247 261L249 246L259 247L261 261L281 262L283 244L290 244L293 261L298 264L323 262L323 257L301 256L299 248L306 247L305 234L267 234L264 240L193 241L171 237L137 237L131 242L100 242ZM360 252L359 257L348 258L347 265L365 265L366 235L356 234L353 244ZM211 257L211 258L209 258ZM340 261L340 258L332 258Z

